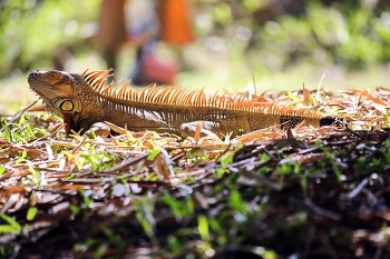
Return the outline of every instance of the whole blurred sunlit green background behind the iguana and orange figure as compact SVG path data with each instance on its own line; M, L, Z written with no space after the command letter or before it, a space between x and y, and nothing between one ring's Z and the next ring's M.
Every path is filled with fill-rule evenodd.
M145 2L156 3L126 2L127 31L145 16L134 9ZM253 80L257 93L295 90L303 83L316 89L320 82L328 90L390 87L389 0L186 4L194 40L160 40L154 48L156 59L179 64L177 87L243 92L253 88ZM0 113L37 99L26 80L31 70L107 69L96 42L100 6L97 0L0 1ZM121 43L116 79L130 79L136 49L131 37Z

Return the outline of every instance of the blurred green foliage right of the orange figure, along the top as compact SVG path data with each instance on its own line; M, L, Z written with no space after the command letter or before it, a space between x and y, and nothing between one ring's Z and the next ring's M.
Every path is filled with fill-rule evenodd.
M231 6L213 1L209 18L214 26L207 32L228 36L225 47L232 53L245 51L257 71L280 71L298 61L368 68L390 60L388 10L365 1L338 1L332 6L322 2L308 1L300 11L264 20L260 10L272 13L281 7L252 0Z

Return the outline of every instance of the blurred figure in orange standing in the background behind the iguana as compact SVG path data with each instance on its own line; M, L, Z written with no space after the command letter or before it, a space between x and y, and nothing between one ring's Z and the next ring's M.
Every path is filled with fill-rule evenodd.
M179 70L177 61L159 59L159 40L183 46L194 40L186 0L103 0L97 44L108 68L116 68L125 41L136 48L129 78L137 86L173 84Z

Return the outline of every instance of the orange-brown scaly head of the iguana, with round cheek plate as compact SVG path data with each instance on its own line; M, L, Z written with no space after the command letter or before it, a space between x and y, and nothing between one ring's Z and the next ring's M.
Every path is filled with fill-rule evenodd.
M65 116L81 109L75 89L77 76L56 70L37 71L30 72L28 83L53 112Z

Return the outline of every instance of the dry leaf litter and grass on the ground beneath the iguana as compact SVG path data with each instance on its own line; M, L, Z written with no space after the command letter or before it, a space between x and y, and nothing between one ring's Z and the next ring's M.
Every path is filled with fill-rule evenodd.
M390 90L315 94L253 98L344 127L94 139L48 112L1 117L0 257L389 257Z

